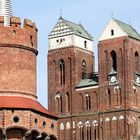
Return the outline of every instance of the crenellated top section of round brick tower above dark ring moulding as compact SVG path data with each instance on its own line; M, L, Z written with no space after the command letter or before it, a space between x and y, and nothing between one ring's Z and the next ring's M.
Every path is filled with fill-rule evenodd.
M4 17L0 16L0 40L3 44L24 46L37 49L37 28L31 20L25 19L21 26L19 17L11 17L10 26L4 26Z

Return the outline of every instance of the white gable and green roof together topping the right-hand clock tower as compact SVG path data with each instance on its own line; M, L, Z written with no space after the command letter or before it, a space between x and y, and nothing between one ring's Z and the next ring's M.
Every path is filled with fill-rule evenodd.
M112 18L105 27L103 33L101 34L99 41L123 36L129 36L135 39L140 39L140 35L131 25Z

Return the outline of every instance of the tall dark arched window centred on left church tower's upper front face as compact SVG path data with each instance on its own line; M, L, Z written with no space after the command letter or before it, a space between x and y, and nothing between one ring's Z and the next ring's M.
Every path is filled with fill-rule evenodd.
M60 65L60 84L65 85L65 62L63 59L59 61Z

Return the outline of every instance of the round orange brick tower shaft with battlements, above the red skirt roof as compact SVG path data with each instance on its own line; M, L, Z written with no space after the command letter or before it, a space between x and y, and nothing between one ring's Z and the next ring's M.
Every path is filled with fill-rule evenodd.
M37 29L25 19L12 17L4 26L0 17L0 95L36 98Z

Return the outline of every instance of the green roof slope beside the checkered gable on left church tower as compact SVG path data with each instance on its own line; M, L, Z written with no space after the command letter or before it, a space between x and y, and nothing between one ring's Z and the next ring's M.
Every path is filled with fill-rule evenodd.
M62 17L60 17L60 19L62 19L67 24L67 26L69 26L69 28L73 31L74 34L89 40L93 39L92 36L84 29L81 24L73 23L71 21L63 19Z

